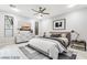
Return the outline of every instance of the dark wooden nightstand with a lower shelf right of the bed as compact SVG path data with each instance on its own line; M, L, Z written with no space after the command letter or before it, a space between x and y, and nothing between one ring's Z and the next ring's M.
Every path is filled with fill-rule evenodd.
M73 40L73 41L72 41L72 47L73 47L73 46L84 47L84 50L86 51L86 41L84 41L84 40L80 40L80 41L78 41L78 40Z

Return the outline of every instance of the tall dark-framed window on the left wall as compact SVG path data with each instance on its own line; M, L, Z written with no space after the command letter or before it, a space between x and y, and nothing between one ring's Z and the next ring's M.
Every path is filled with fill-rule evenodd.
M4 36L13 36L13 17L4 15Z

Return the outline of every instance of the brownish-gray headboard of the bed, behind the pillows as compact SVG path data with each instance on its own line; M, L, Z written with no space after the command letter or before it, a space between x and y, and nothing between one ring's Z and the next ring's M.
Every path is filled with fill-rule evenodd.
M62 34L65 34L68 39L68 45L70 44L70 32L50 32L52 37L62 37Z

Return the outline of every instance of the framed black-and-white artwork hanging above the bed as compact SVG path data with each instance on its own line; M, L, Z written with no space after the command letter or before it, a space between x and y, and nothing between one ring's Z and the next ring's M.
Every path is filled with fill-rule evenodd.
M53 21L53 30L65 30L66 29L66 19L59 19Z

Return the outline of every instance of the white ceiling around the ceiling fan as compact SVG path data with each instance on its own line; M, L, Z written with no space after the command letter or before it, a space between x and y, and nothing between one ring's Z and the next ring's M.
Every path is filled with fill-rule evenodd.
M34 12L31 9L37 10L39 7L46 8L45 12L48 12L50 15L45 15L46 18L55 17L62 13L66 13L68 11L86 8L86 4L77 4L73 8L67 8L67 4L15 4L20 12L13 11L9 4L0 4L0 11L6 11L23 17L34 18Z

